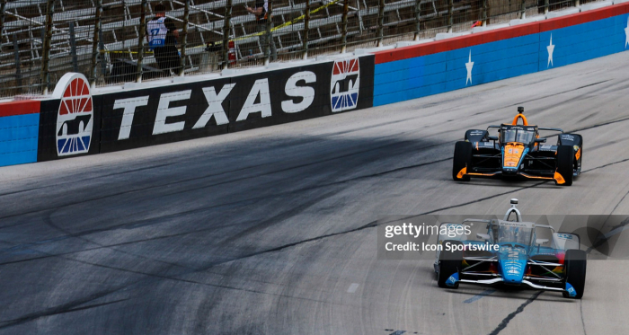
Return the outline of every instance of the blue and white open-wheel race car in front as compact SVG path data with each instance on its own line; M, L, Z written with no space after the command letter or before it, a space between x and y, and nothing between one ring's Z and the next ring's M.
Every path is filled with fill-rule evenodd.
M511 199L503 220L465 219L461 224L441 224L453 225L447 227L450 231L456 226L484 224L487 234L476 234L475 239L460 234L449 240L439 235L442 250L437 251L434 264L439 287L457 288L460 283L527 286L580 299L587 254L580 250L579 235L555 233L550 225L524 222L517 204L518 199Z

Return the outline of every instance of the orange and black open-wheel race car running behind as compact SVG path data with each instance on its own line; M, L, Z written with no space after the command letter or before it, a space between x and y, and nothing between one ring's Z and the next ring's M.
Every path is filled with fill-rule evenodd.
M498 136L490 136L492 128L498 129ZM540 137L540 130L556 132L547 136L556 136L556 145L546 145L547 137ZM518 107L518 115L510 124L465 132L465 141L455 145L452 178L519 177L570 186L581 172L582 160L583 137L564 134L560 128L529 125L524 108Z

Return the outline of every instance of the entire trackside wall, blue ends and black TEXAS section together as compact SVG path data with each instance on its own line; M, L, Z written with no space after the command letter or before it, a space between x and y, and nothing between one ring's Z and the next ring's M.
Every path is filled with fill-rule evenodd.
M360 57L99 93L71 73L51 99L0 103L0 166L267 127L545 71L627 50L628 13L626 2Z

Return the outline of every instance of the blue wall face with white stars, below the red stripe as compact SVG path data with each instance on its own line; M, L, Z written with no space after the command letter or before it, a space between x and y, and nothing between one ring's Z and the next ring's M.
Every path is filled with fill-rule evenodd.
M421 57L377 62L374 106L445 93L629 50L625 34L629 26L628 18L629 14L625 13ZM551 45L551 36L554 50L552 64L549 64L547 47ZM465 38L473 37L474 34L471 34ZM447 43L447 40L434 43ZM456 46L461 43L459 40L459 43L450 44ZM474 64L468 78L465 65L470 63L470 57Z

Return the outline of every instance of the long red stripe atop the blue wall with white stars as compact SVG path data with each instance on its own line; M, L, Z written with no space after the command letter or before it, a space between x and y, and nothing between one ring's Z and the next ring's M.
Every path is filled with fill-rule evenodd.
M607 19L608 17L622 15L624 13L629 13L629 3L615 4L584 13L575 13L542 22L530 22L495 31L477 32L453 39L437 40L417 46L377 51L374 53L376 57L375 61L376 64L382 64L412 57L421 57L456 48L467 48L479 44L495 42L497 40L513 39L520 36L536 34L542 31L552 31L554 29L565 28L581 23Z

